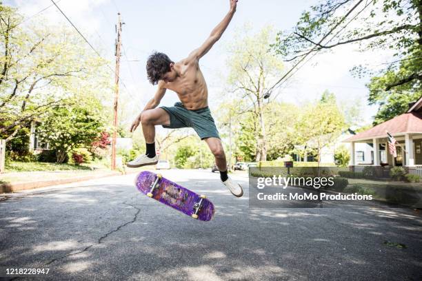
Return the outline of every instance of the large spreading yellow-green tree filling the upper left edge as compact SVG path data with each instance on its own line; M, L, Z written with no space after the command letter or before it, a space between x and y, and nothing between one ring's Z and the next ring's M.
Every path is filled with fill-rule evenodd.
M74 30L21 21L16 9L0 4L0 137L6 141L72 98L95 92L107 101L112 89L107 62Z

